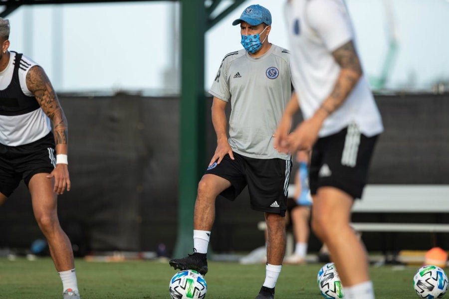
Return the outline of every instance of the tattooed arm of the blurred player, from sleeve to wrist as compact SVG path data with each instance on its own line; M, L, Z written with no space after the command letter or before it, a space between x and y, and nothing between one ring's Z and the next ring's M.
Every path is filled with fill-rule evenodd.
M362 67L352 41L333 51L332 55L340 65L340 74L331 94L320 106L320 109L324 110L328 115L332 114L344 103L362 76Z

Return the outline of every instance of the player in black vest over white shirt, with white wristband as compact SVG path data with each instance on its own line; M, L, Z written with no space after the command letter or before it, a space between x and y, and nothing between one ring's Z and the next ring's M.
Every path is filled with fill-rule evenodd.
M62 280L63 298L80 299L73 251L56 210L57 195L70 190L67 121L44 70L9 52L8 38L9 21L0 18L0 203L25 182Z

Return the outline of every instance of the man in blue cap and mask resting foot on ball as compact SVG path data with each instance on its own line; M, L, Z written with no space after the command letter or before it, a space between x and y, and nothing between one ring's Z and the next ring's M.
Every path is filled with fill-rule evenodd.
M209 91L214 96L212 122L217 149L198 186L194 216L194 251L174 259L175 269L207 273L206 253L215 219L215 200L234 200L247 185L253 210L265 213L268 229L266 277L257 299L274 298L285 251L285 210L291 169L289 154L273 147L273 133L291 96L287 50L271 44L271 14L250 5L240 24L244 49L225 55ZM230 103L229 131L225 107Z

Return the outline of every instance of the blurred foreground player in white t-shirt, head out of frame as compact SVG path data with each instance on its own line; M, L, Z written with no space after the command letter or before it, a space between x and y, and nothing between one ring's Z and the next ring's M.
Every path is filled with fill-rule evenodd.
M363 75L342 0L288 0L295 94L276 131L281 152L312 149L312 228L329 248L346 299L374 299L363 244L349 226L366 184L382 119ZM304 121L290 132L292 116Z

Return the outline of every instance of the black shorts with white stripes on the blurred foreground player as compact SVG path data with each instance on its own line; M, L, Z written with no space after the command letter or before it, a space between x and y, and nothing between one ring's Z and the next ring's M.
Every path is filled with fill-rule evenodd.
M355 124L319 138L312 149L309 184L312 195L323 186L336 187L361 198L379 135L366 137Z

